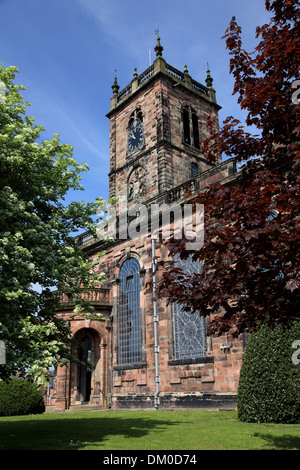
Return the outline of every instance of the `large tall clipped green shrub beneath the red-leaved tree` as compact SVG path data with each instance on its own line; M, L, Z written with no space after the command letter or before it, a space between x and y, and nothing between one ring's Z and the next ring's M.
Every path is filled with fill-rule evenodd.
M300 365L292 360L300 322L262 326L247 343L238 388L238 417L246 422L300 422Z

